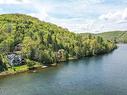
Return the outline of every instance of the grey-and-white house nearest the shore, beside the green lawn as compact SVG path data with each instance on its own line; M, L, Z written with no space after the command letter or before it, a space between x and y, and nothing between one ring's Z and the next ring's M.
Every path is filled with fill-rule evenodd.
M19 66L24 64L24 58L19 54L9 53L7 58L11 66Z

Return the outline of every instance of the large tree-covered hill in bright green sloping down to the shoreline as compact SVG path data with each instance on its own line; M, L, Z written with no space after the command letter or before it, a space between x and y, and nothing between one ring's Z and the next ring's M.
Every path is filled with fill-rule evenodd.
M115 47L112 41L91 35L82 37L28 15L0 15L1 71L8 70L10 66L7 60L8 53L22 55L25 65L31 67L107 53ZM12 65L11 67L15 68Z

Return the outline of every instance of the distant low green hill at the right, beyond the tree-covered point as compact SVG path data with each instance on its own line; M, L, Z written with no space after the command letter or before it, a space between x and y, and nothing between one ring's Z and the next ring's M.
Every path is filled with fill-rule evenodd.
M104 39L109 39L117 43L127 43L127 31L111 31L97 34Z

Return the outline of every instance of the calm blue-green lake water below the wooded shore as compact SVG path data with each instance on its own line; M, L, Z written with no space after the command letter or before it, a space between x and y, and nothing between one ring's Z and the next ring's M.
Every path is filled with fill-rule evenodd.
M0 95L127 95L127 45L112 53L0 79Z

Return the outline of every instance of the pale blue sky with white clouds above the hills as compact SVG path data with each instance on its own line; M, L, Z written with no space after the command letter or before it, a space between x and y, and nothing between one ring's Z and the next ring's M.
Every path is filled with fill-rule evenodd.
M21 13L75 33L127 30L127 0L0 0L0 14Z

